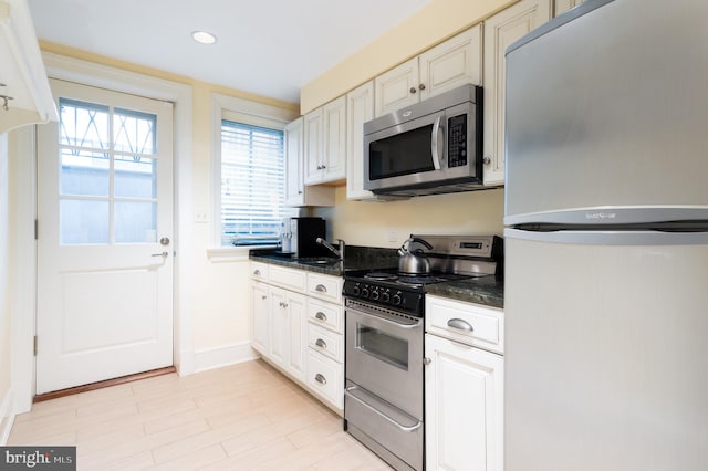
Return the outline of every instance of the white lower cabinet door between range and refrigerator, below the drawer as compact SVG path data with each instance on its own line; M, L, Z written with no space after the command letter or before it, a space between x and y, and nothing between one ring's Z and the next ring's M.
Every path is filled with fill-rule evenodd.
M503 358L425 336L426 469L503 470Z

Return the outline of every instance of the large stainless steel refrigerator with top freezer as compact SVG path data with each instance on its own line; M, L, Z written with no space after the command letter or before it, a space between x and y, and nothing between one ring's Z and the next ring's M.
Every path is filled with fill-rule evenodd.
M504 469L708 469L708 1L507 51Z

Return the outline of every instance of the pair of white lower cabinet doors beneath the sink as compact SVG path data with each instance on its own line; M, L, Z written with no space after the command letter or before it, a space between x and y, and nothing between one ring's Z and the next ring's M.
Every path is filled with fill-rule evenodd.
M275 286L269 289L270 358L296 379L304 379L306 337L305 296Z

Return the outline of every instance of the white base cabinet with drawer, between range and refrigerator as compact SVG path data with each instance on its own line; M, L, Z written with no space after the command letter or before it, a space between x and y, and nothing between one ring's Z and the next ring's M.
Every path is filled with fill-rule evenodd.
M503 470L503 311L426 296L428 470Z

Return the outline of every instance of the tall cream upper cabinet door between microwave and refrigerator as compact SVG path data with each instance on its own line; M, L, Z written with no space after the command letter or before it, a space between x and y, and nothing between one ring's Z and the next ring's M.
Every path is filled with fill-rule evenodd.
M550 19L550 0L521 0L485 21L485 185L504 184L504 52Z

